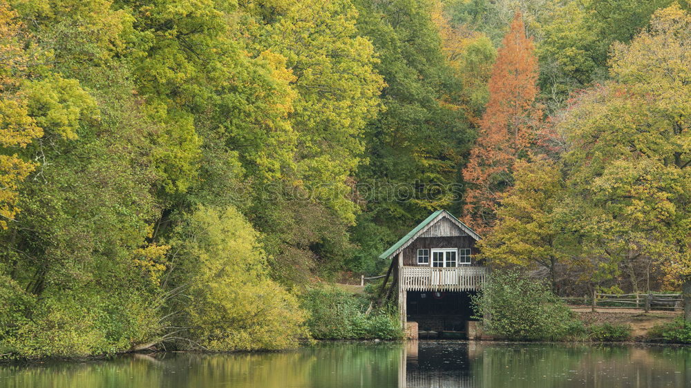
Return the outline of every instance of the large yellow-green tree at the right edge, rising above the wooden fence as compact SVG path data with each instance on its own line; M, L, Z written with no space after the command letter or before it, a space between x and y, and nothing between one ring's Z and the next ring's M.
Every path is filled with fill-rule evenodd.
M691 15L657 11L650 29L617 44L614 81L590 90L558 124L569 186L600 268L644 255L683 284L691 320Z

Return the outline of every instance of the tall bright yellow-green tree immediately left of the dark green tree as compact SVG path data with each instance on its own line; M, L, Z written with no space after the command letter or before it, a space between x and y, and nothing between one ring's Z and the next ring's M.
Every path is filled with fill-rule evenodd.
M260 31L256 48L283 55L294 75L297 178L348 223L357 212L348 179L361 162L363 128L377 115L384 86L372 43L357 33L357 17L347 0L294 1Z

